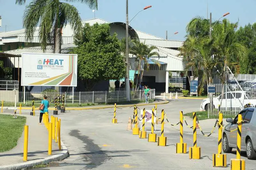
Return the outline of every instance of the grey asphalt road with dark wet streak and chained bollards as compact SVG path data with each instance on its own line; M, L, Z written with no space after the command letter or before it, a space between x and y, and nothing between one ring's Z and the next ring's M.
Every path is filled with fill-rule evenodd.
M158 105L157 116L164 109L169 121L179 121L179 111L184 113L198 111L202 100L172 100L169 104ZM151 109L153 106L146 106ZM140 107L140 109L143 109ZM197 130L197 146L201 147L201 159L189 159L187 154L176 154L176 143L179 142L179 131L165 124L164 136L167 146L157 146L148 143L148 139L139 139L126 130L128 118L133 115L133 108L117 109L117 124L112 124L113 109L68 111L58 115L61 118L61 138L69 150L69 157L63 161L54 162L47 167L36 169L95 169L114 170L123 168L133 169L181 169L181 170L210 170L230 169L230 159L236 158L236 152L227 154L226 168L212 166L212 154L217 152L218 139L204 137ZM188 122L192 124L191 120ZM184 123L185 124L185 123ZM157 125L156 134L160 136L161 125ZM146 124L147 133L150 124ZM217 131L216 131L217 132ZM184 127L184 142L192 146L192 130ZM187 147L187 151L188 151ZM247 170L255 168L256 160L245 159Z

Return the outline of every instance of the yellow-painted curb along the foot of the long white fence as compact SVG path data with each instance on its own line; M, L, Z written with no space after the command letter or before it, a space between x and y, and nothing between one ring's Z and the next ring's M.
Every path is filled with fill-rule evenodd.
M164 100L163 102L158 102L158 103L142 103L142 104L137 104L136 106L146 106L146 105L155 105L155 104L167 104L169 103L168 100ZM120 105L117 107L132 107L134 106L134 104L130 104L130 105ZM14 107L3 107L4 109L14 109ZM18 107L17 107L18 108ZM93 109L104 109L104 108L113 108L113 106L102 106L102 107L66 107L65 110L93 110ZM22 109L31 109L31 107L21 107ZM17 109L19 110L19 109ZM54 108L48 108L48 110L54 110Z

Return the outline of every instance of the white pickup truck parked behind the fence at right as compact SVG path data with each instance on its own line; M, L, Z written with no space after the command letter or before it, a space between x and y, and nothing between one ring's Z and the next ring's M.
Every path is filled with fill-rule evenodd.
M255 106L256 104L256 99L247 99L246 91L233 91L233 92L225 92L223 94L223 99L221 102L221 95L218 97L214 97L212 100L213 107L218 108L221 102L220 109L243 109L247 107L248 105ZM201 103L201 110L208 110L208 106L210 105L210 100L209 99L204 99Z

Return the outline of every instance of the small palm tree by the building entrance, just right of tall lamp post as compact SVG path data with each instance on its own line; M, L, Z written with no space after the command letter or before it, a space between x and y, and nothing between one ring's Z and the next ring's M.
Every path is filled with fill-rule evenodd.
M138 65L137 65L137 69L138 69L138 81L142 82L142 78L143 78L143 72L144 70L148 70L149 68L149 63L148 63L148 59L152 56L158 56L159 57L159 53L157 51L157 47L155 46L149 46L147 44L140 42L139 40L136 40L134 42L134 46L131 48L131 53L133 56L136 57L136 60L138 61ZM142 63L143 62L143 63ZM158 67L160 67L160 63L156 60L152 60L153 63L155 63L156 65L158 65ZM143 64L143 65L142 65ZM140 76L140 70L142 70L141 72L141 76ZM139 81L140 79L140 81ZM136 89L137 89L137 85L136 85Z

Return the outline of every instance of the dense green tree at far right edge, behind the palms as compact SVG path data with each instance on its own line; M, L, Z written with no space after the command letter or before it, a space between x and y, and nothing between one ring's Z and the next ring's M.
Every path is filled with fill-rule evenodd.
M241 74L256 74L256 23L240 27L236 31L236 41L247 47L248 55L240 60Z

